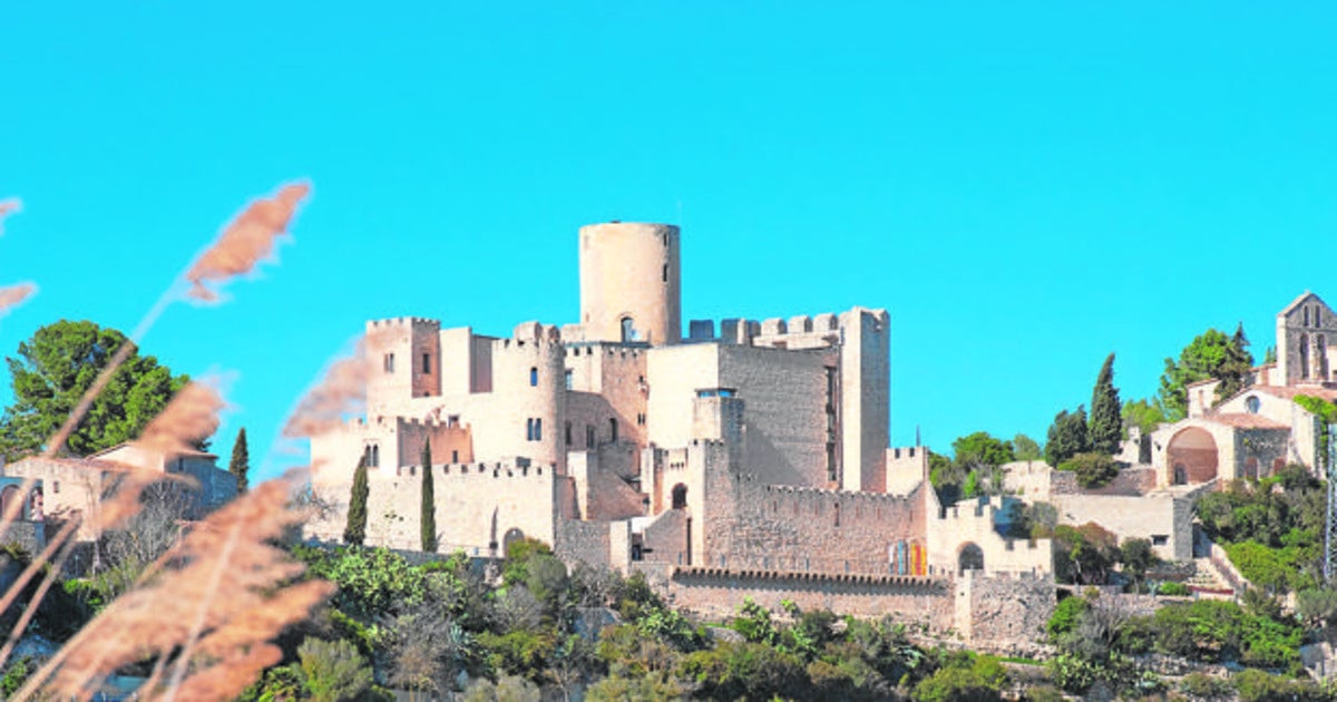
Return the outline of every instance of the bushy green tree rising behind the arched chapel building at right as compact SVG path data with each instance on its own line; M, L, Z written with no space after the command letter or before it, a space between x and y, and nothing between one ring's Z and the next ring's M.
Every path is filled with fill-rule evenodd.
M1249 338L1239 325L1233 337L1219 329L1207 329L1194 337L1183 348L1179 360L1166 358L1166 370L1161 376L1161 405L1171 421L1183 419L1189 412L1186 388L1199 380L1217 378L1217 401L1239 392L1249 380L1253 368L1253 354L1249 353Z

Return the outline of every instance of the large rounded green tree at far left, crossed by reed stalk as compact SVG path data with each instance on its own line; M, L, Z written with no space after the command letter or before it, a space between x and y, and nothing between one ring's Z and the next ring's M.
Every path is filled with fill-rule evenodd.
M130 340L90 321L62 320L37 329L7 357L13 404L0 417L0 451L11 457L41 451L79 404L116 350ZM87 456L139 436L151 419L186 386L152 356L136 350L92 401L66 451ZM199 437L198 448L207 445Z

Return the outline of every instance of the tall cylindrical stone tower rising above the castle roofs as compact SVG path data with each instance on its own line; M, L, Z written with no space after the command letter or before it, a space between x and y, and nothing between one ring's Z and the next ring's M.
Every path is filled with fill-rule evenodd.
M580 325L590 341L682 340L678 227L608 222L580 227Z

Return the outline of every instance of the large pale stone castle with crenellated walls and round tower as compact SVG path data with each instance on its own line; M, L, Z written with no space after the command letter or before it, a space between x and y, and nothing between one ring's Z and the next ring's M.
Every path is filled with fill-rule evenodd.
M993 504L943 509L927 449L888 448L885 310L694 320L683 337L679 235L582 227L578 324L368 322L366 417L312 439L313 488L342 508L309 535L340 539L361 457L369 544L420 547L432 471L440 551L533 538L699 610L789 592L941 628L976 575L1044 582L1047 540L1000 536Z

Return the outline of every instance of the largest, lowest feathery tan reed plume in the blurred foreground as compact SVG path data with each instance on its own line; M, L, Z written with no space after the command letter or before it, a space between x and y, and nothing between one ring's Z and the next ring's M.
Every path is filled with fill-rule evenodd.
M87 698L116 669L156 661L140 691L171 699L229 699L277 663L269 643L333 591L310 580L270 542L301 521L287 508L293 476L229 503L155 563L155 576L122 595L52 658L15 699L37 690ZM277 588L277 590L275 590Z

